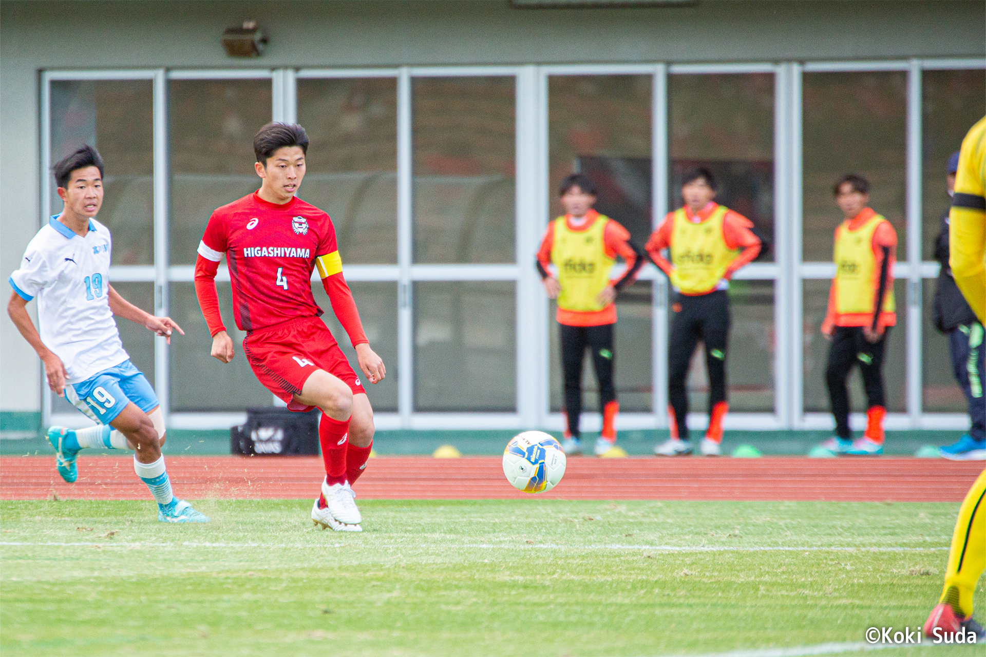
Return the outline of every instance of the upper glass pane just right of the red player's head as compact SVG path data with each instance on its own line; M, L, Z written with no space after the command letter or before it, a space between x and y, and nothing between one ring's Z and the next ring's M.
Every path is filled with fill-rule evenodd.
M332 218L343 262L396 263L397 81L299 80L298 122L311 140L299 195Z

